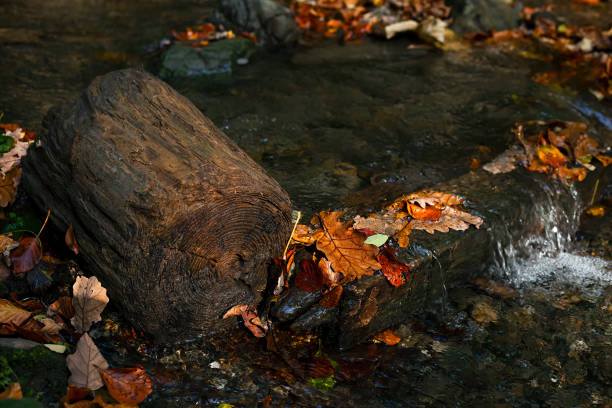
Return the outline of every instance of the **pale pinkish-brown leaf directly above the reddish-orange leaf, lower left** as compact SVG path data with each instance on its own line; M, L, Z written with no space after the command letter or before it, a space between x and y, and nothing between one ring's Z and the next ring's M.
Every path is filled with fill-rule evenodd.
M107 369L108 363L87 333L79 339L75 353L66 357L66 364L72 374L68 384L90 390L104 386L100 369Z

